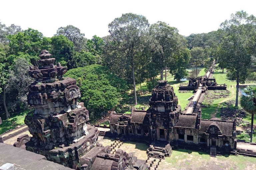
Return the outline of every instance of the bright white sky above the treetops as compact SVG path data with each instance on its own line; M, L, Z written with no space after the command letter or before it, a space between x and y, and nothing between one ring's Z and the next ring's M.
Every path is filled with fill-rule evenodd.
M244 10L256 16L255 0L0 0L0 22L33 28L52 37L73 25L91 39L109 35L108 24L124 13L176 27L183 36L215 31L230 15Z

